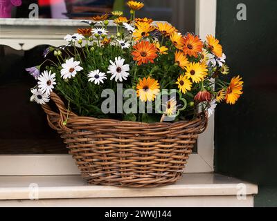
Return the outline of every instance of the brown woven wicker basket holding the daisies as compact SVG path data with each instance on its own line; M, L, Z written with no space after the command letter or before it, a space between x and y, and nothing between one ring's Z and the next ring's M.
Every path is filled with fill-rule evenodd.
M68 113L55 93L51 99L60 113L42 105L48 124L60 133L89 184L152 187L175 183L208 122L205 113L190 121L154 124L79 117Z

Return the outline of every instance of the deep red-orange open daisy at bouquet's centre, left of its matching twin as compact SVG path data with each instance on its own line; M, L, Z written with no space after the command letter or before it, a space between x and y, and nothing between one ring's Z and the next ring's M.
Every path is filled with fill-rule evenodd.
M141 41L133 48L133 59L138 61L138 65L148 64L149 61L154 63L154 59L158 56L156 46L149 43L149 41Z

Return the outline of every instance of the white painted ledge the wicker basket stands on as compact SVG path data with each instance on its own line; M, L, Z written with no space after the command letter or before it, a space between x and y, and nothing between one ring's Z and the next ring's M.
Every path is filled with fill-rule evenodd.
M238 200L242 187L247 198ZM39 200L29 200L36 193ZM253 206L256 193L254 184L213 173L184 174L177 184L150 189L89 186L78 175L0 177L0 206Z

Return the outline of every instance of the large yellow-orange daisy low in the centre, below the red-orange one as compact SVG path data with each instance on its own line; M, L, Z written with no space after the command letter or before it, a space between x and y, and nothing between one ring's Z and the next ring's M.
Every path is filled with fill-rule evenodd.
M139 79L139 84L136 86L136 95L143 102L151 102L154 101L156 96L159 94L159 88L160 86L157 80L152 79L151 77L148 77L148 79L143 77L143 79Z

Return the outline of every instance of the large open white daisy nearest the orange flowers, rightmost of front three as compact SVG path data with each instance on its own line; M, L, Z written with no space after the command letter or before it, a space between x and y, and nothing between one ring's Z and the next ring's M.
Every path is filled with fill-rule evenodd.
M124 64L125 59L121 59L121 57L116 57L115 62L109 60L109 63L111 63L108 67L109 71L107 73L111 73L111 79L114 79L117 81L123 81L123 79L127 79L129 76L129 64Z

